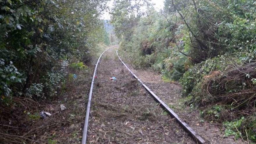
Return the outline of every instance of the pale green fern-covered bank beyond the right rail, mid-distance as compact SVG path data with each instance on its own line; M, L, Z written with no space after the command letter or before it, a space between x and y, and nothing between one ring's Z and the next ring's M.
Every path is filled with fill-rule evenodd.
M135 67L152 67L166 77L178 80L185 72L187 58L178 51L183 51L182 45L174 43L174 27L175 24L167 22L163 15L149 9L146 17L140 18L132 29L129 40L122 37L120 47ZM182 26L177 29L177 34L181 31Z

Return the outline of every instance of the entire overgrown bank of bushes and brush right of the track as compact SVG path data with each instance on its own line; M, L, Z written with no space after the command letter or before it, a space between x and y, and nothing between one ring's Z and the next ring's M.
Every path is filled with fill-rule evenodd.
M134 67L179 81L189 106L208 107L205 119L225 122L226 135L256 141L249 128L255 127L255 1L166 0L157 12L144 1L117 0L112 14Z

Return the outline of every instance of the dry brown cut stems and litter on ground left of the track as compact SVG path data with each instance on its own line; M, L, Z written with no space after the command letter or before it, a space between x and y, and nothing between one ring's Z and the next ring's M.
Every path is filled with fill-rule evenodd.
M35 101L13 97L9 106L0 105L0 143L80 143L90 74L80 72L77 80L66 84L64 94L51 100ZM61 111L60 105L67 109ZM52 115L45 119L39 113Z

